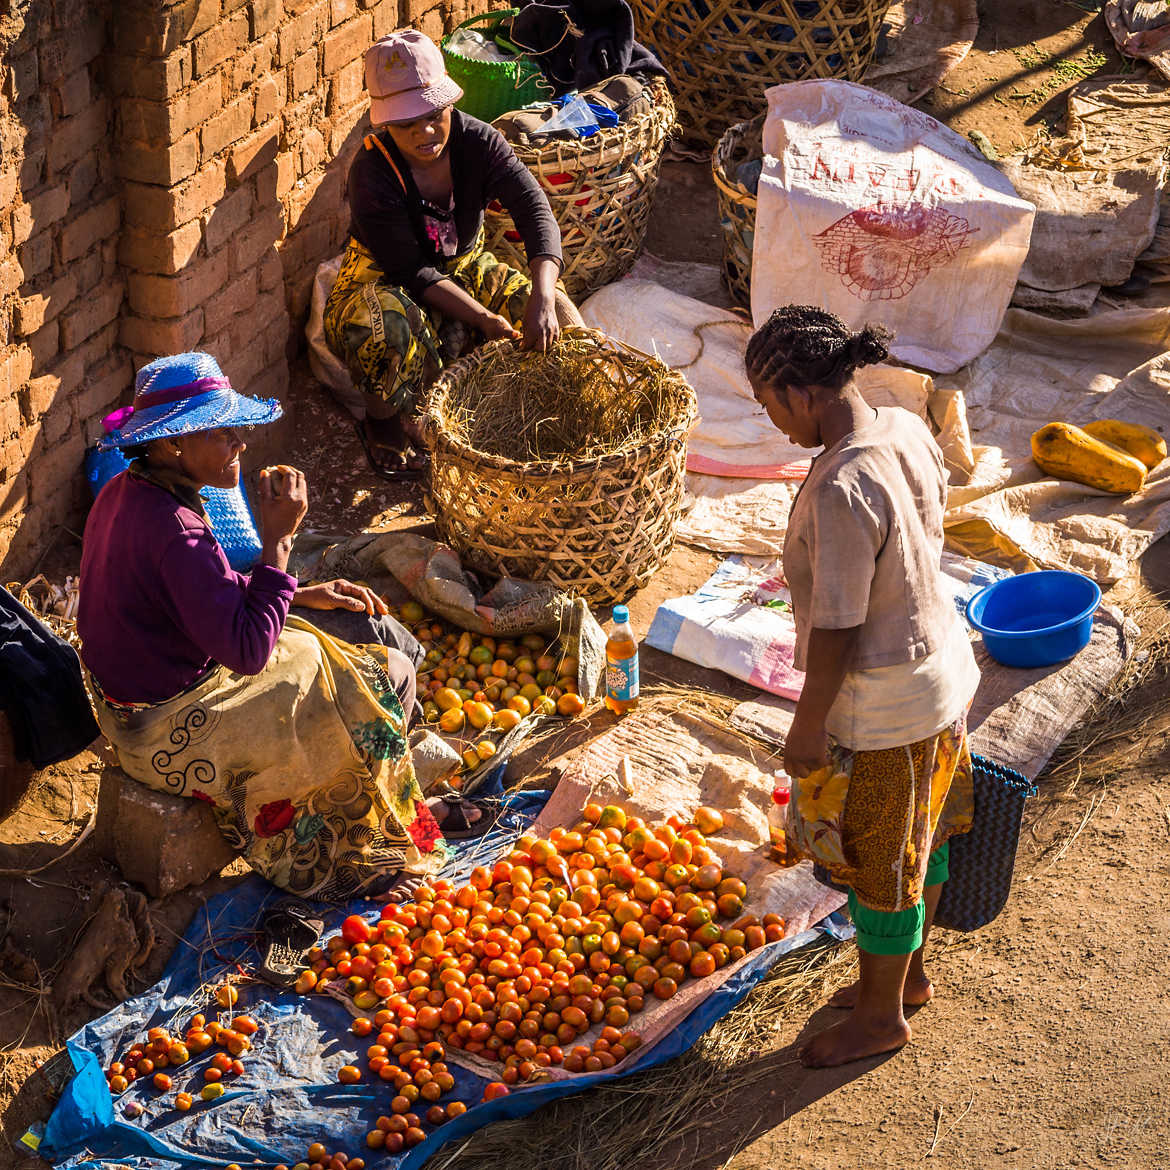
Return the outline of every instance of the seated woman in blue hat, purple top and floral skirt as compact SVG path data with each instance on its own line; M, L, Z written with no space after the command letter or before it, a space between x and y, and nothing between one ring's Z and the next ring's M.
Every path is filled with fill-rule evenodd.
M206 353L139 371L133 406L106 419L103 446L133 461L85 525L77 629L122 769L211 804L275 885L342 900L447 854L406 744L414 661L383 645L395 640L377 628L385 605L343 580L300 589L287 571L304 475L260 473L250 573L230 569L208 526L200 488L234 488L243 433L280 414L238 394ZM344 641L321 628L339 618Z

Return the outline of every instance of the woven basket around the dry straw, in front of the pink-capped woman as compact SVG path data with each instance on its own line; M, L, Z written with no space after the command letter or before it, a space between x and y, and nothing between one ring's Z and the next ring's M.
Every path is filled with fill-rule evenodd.
M549 580L591 605L610 605L641 589L674 545L695 392L656 358L597 330L563 336L589 364L591 393L604 395L607 410L622 417L651 412L648 435L577 460L517 461L476 449L456 420L474 417L483 374L498 374L511 393L519 380L510 371L545 360L512 342L491 342L447 366L428 395L427 502L440 535L467 567ZM523 391L515 393L515 410L523 412Z

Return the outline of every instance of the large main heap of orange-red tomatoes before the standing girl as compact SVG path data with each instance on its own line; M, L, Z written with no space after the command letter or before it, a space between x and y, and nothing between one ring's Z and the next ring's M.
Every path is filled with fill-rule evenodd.
M647 998L669 999L784 937L778 916L743 915L748 888L707 842L722 823L700 808L652 827L618 805L587 805L579 824L521 837L467 885L421 887L376 923L346 918L309 952L296 987L340 985L374 1012L355 1030L377 1030L369 1073L399 1095L413 1083L429 1100L445 1046L502 1064L498 1090L555 1065L611 1068L641 1042L629 1024ZM419 1085L415 1065L432 1079Z

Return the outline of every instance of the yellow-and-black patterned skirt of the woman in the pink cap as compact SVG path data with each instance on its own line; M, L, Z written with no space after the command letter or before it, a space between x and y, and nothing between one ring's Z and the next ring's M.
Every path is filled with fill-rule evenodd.
M532 282L483 250L482 228L462 256L447 261L445 271L484 309L521 328ZM442 314L388 284L373 254L350 238L323 325L329 347L358 390L383 399L394 413L414 413L443 364L442 324Z

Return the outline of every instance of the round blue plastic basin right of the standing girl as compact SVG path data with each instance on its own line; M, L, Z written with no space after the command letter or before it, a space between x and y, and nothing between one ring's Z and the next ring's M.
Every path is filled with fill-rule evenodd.
M1053 666L1085 649L1100 604L1096 581L1081 573L1045 570L979 590L966 604L966 620L983 634L983 645L997 662Z

